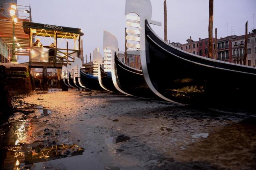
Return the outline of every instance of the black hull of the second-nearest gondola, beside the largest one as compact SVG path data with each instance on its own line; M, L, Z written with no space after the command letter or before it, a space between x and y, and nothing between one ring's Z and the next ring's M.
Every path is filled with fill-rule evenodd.
M115 70L118 85L125 92L138 97L159 98L147 85L142 70L135 69L123 63L115 52Z

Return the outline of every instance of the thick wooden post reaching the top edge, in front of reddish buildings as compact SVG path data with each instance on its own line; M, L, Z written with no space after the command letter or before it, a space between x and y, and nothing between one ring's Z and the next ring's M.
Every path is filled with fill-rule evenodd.
M213 0L209 0L209 26L208 26L208 34L209 34L209 43L208 43L208 57L212 59L212 45L213 45Z

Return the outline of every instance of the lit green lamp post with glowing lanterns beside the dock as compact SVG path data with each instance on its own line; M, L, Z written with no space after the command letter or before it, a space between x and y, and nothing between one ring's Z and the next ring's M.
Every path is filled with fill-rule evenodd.
M15 24L18 22L18 18L15 16L17 6L11 5L10 16L12 17L12 58L10 63L18 63L15 56Z

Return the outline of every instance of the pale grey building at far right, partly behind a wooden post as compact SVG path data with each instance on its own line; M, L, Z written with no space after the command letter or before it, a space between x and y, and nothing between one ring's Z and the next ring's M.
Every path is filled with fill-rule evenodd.
M236 37L232 41L233 63L245 64L245 35ZM247 63L248 66L256 66L256 29L249 32L247 39Z

